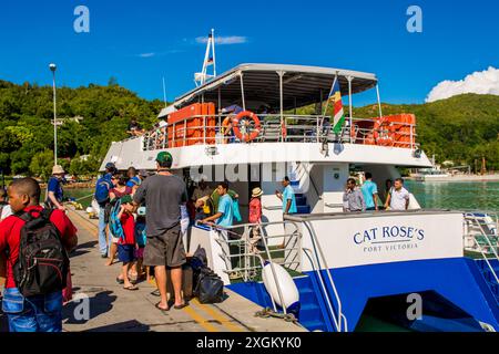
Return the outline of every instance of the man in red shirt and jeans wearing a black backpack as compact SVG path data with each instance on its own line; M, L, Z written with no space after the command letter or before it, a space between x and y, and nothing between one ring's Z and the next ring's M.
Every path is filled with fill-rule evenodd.
M33 178L13 180L8 195L13 215L0 223L0 253L7 257L2 311L10 332L61 332L68 252L78 244L77 228L63 211L40 206Z

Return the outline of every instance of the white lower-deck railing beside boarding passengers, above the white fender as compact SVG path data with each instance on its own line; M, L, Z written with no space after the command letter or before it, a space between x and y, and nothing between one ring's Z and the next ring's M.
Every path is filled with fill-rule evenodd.
M271 227L282 227L284 233L269 236L267 228ZM224 259L226 264L230 264L224 272L231 279L251 281L258 275L258 271L263 271L263 262L268 261L281 303L284 304L283 289L276 277L275 264L279 264L288 271L301 269L302 233L298 225L294 221L273 221L232 227L213 226L212 228L220 236L216 241L223 253L218 256ZM257 230L256 235L259 236L258 239L252 238L255 230ZM284 240L284 248L271 247L269 242L274 239ZM257 240L262 241L263 250L256 246ZM277 306L272 296L271 300L274 311L277 312ZM283 305L282 309L286 313L286 306Z

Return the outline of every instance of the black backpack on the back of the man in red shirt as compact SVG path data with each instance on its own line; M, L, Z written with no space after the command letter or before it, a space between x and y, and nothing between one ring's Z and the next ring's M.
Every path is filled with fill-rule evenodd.
M51 214L42 209L39 217L32 211L18 216L26 223L12 270L16 287L24 296L45 295L67 284L70 261L59 229L50 221Z

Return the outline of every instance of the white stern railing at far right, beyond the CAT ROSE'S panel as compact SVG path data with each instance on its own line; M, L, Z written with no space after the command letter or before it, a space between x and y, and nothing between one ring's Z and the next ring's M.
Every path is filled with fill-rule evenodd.
M479 252L499 283L490 259L499 262L499 218L497 212L465 212L465 250Z

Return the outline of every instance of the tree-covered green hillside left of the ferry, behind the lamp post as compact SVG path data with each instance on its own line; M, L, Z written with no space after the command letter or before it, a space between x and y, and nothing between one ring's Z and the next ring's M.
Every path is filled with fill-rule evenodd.
M58 88L58 118L83 117L58 127L59 163L70 173L95 171L110 143L126 137L130 118L150 126L162 105L140 98L113 80L108 86ZM51 86L0 81L0 166L6 174L47 177L53 165L52 118ZM74 158L81 155L90 156Z

